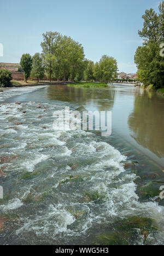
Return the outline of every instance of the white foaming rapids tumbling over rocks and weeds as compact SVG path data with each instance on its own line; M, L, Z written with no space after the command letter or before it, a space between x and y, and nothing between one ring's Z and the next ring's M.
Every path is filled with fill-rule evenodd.
M52 114L64 109L57 102L1 104L0 158L8 159L1 161L0 215L11 225L0 243L95 243L95 232L131 216L153 218L160 231L150 232L148 243L162 243L164 208L139 200L127 156L95 133L54 131ZM143 235L133 241L143 243Z

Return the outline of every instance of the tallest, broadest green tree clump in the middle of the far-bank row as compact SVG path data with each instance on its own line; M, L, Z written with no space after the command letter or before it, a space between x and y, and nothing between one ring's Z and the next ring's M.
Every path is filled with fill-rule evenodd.
M84 49L71 37L58 32L43 34L42 57L48 77L57 80L82 79L85 68Z

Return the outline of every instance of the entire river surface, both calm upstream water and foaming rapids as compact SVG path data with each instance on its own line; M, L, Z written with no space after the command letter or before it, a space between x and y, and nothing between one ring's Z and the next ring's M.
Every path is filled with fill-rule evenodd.
M52 85L10 89L0 101L1 245L163 243L164 97ZM65 106L111 110L112 135L54 131L52 114ZM130 225L137 217L156 229Z

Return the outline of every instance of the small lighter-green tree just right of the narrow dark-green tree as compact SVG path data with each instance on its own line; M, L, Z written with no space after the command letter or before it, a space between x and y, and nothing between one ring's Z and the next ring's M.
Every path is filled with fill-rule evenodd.
M38 82L39 82L39 79L42 79L44 77L43 61L42 61L42 57L40 56L39 53L36 53L32 57L31 75L32 75L32 77L37 78Z

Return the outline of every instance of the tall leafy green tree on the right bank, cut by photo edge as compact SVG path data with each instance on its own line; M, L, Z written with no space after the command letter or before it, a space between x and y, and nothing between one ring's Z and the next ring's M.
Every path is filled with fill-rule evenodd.
M159 6L160 13L153 9L146 10L142 16L144 19L143 30L139 31L140 37L144 38L143 46L139 46L134 56L138 67L138 80L155 88L162 88L164 85L164 62L160 56L160 44L163 43L163 1Z

